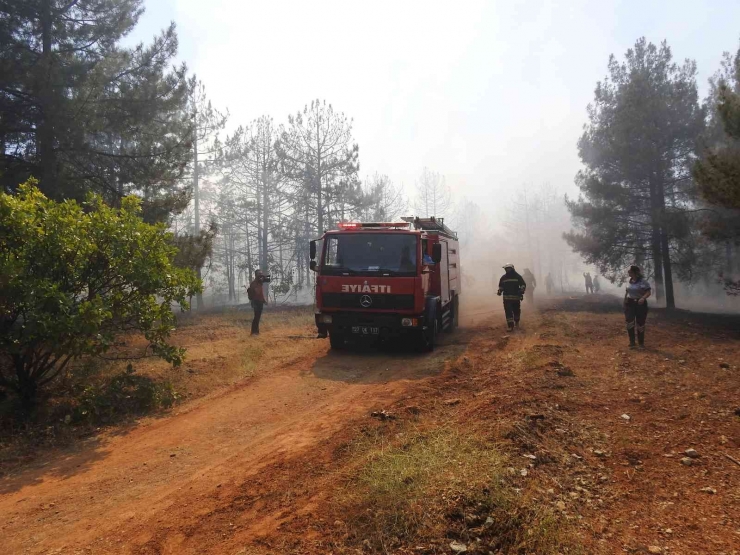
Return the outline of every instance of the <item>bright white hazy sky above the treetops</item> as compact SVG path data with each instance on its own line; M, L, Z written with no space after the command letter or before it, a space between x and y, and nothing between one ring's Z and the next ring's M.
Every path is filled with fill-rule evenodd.
M695 59L740 40L737 0L147 0L136 40L174 20L180 58L230 127L311 99L354 119L361 173L409 191L423 166L494 207L513 185L573 193L576 141L611 53L640 36Z

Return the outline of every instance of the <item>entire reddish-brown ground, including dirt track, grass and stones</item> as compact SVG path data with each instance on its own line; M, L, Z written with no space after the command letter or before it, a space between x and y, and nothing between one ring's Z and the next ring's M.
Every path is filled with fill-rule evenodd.
M3 551L740 553L740 318L652 310L632 351L618 299L538 308L427 355L195 318L186 402L6 469Z

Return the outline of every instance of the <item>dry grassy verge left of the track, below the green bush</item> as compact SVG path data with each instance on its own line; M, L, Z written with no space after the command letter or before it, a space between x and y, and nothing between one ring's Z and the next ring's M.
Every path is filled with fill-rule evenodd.
M178 367L156 356L135 356L146 348L146 338L124 334L104 355L71 364L32 418L19 414L17 399L6 393L0 397L0 476L49 448L72 447L218 393L258 375L261 367L297 356L301 339L313 337L307 307L271 308L264 338L256 341L249 338L251 318L246 307L180 313L170 337L173 346L186 350ZM267 339L275 333L292 338Z

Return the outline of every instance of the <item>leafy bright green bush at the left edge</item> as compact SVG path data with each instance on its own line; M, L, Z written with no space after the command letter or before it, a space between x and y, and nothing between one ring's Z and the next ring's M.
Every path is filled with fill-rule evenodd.
M179 365L172 306L186 309L201 284L174 265L176 254L135 197L120 208L98 196L58 203L33 181L0 194L0 389L30 410L70 362L104 353L121 333L143 334Z

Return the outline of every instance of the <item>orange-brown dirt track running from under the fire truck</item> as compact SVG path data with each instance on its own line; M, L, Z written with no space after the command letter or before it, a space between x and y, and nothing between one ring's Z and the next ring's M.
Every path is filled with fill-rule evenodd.
M167 529L208 514L222 492L264 466L386 406L408 382L438 375L465 336L456 334L432 355L337 354L328 341L277 331L245 338L273 353L253 379L3 479L4 552L135 553L163 535L164 552L182 553L183 538ZM286 360L283 350L299 354Z

